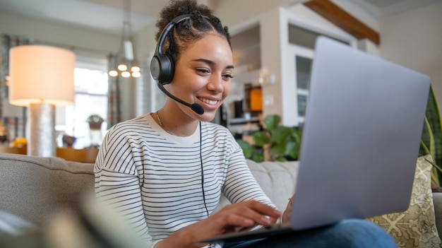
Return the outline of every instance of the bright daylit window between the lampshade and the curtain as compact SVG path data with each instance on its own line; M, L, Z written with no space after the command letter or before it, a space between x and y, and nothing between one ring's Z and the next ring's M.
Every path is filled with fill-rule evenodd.
M57 143L63 146L61 138L66 134L76 138L73 148L87 148L92 145L88 117L97 114L104 119L101 136L107 126L107 61L77 57L74 84L74 105L56 110Z

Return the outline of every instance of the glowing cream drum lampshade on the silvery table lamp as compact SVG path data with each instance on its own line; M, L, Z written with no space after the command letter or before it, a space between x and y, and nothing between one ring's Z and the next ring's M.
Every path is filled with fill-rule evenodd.
M66 49L42 45L13 47L9 53L9 103L72 105L76 55Z

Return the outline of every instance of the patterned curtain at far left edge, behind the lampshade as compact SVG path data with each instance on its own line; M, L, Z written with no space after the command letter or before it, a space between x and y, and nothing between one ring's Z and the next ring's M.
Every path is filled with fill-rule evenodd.
M6 76L9 74L9 49L20 45L30 45L33 41L18 35L0 34L0 122L7 130L8 141L26 136L26 107L10 108L8 106L8 85ZM18 110L18 111L17 111Z

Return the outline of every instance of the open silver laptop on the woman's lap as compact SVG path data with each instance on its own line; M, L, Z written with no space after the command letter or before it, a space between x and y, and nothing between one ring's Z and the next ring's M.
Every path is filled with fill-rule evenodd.
M429 86L422 73L318 37L291 223L203 241L251 240L407 210Z

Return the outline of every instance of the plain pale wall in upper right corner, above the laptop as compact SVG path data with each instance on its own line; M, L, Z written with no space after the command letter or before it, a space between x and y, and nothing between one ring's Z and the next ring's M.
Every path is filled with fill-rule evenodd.
M381 18L381 57L425 73L442 106L442 1Z

